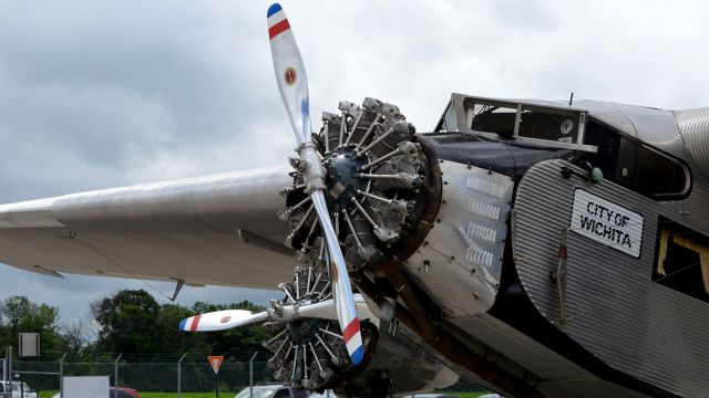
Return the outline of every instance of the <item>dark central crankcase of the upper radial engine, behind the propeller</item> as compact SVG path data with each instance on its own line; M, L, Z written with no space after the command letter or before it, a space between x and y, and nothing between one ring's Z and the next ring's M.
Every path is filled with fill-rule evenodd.
M357 156L354 146L341 146L325 155L322 165L327 170L325 185L328 207L333 211L342 211L351 207L357 191L364 189L367 181L358 175L367 164L366 157Z

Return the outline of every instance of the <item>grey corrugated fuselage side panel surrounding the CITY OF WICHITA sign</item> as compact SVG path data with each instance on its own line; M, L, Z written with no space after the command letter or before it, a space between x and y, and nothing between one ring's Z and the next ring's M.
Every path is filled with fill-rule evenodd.
M561 160L541 163L522 179L516 201L515 265L536 308L609 366L681 396L709 389L709 303L651 282L658 217L709 231L709 191L695 186L685 201L657 202L610 181L564 179ZM583 170L577 169L579 175ZM580 234L567 237L565 312L558 322L556 285L562 229L569 226L574 190L621 203L645 217L635 260Z

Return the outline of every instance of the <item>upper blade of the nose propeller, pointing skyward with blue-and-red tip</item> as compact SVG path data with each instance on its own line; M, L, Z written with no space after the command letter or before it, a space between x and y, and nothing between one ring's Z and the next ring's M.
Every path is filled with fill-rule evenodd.
M310 140L308 76L286 12L279 3L268 8L268 38L278 91L288 111L298 145Z

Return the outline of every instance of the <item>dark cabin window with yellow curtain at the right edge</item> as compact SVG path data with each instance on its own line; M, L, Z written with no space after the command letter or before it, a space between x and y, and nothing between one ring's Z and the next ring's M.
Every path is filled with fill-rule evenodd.
M653 282L709 302L709 237L661 217L657 237Z

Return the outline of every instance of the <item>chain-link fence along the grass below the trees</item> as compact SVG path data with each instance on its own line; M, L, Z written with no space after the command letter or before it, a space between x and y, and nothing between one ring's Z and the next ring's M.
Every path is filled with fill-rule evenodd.
M254 386L277 383L266 367L266 358L254 362L240 355L225 356L218 379L207 362L207 355L186 355L182 358L136 359L122 356L91 362L78 358L42 358L42 360L14 359L12 374L16 381L24 383L38 398L52 398L60 391L61 376L110 376L111 386L134 388L143 398L207 398L215 397L218 383L219 397L234 397L247 388L253 378ZM1 364L0 364L1 366ZM253 369L253 370L251 370ZM117 376L117 378L116 378ZM117 384L114 383L117 380ZM217 381L218 380L218 381ZM460 397L476 397L485 392L475 383L461 378L444 389ZM35 397L27 395L27 398ZM0 397L2 397L0 395ZM19 397L19 395L18 395ZM13 396L14 398L14 396Z

